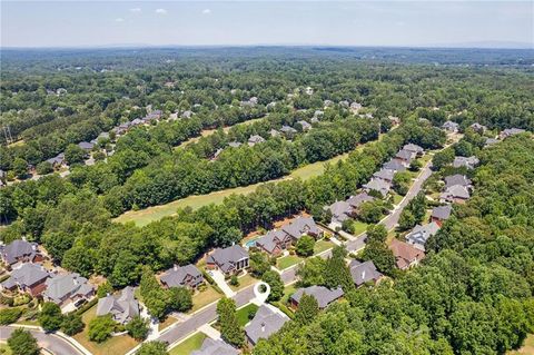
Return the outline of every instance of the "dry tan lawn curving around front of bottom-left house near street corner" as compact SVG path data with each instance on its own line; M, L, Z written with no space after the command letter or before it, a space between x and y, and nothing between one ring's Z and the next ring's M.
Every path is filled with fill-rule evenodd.
M138 344L134 338L128 335L113 336L103 343L95 343L89 341L89 322L97 316L97 305L89 308L81 316L86 327L83 332L73 336L81 345L83 345L93 355L108 355L108 354L126 354Z

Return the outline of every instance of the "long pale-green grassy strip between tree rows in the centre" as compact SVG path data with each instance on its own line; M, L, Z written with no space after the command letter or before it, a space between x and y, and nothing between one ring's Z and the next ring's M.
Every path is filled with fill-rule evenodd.
M141 210L129 210L119 217L115 218L113 220L117 223L128 223L134 221L137 226L146 226L151 221L159 220L166 216L171 216L176 214L178 208L191 207L192 209L198 209L202 206L207 206L210 204L221 204L226 197L237 194L237 195L248 195L256 190L258 186L273 183L273 181L281 181L287 179L300 178L303 180L316 177L322 175L325 171L325 164L335 164L339 160L345 159L348 157L348 154L344 154L337 157L334 157L326 161L317 161L314 164L306 165L301 168L295 169L288 176L278 179L278 180L270 180L267 183L259 183L244 187L235 187L228 188L220 191L215 191L206 195L194 195L188 196L186 198L177 199L176 201L160 205L160 206L152 206Z

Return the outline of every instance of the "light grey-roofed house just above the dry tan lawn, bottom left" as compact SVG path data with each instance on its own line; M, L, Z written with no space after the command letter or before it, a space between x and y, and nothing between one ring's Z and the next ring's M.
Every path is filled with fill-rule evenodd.
M139 303L134 295L134 287L128 286L120 295L108 295L98 300L97 316L111 314L115 322L120 324L129 323L139 315Z

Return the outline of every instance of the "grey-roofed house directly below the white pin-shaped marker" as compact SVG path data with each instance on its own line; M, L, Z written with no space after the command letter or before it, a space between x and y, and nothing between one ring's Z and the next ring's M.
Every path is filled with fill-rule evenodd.
M263 304L253 321L245 326L248 343L254 346L259 339L267 339L289 321L281 310L269 304Z

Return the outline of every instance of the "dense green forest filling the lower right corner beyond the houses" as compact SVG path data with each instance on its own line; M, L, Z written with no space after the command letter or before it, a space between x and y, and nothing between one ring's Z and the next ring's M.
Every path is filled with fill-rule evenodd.
M254 354L504 354L534 331L534 141L479 152L475 193L421 267L286 324Z

